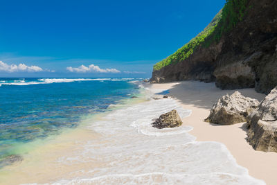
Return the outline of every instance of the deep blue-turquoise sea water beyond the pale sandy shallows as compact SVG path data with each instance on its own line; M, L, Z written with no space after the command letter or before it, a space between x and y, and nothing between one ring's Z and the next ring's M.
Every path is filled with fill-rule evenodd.
M139 93L134 78L0 78L0 161ZM1 162L0 162L1 164ZM0 165L1 167L1 165Z

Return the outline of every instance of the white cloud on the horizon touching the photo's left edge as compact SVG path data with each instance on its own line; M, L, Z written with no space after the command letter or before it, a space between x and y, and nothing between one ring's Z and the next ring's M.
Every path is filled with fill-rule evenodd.
M43 71L42 68L37 66L30 66L28 67L26 64L6 64L2 61L0 61L0 71L6 71L6 72L39 72Z

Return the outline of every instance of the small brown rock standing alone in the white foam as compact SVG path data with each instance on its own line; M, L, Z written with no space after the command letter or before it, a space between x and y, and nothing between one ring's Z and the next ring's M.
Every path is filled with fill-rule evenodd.
M152 123L152 126L161 129L165 127L179 127L182 123L178 112L173 109L166 114L161 114L161 116Z

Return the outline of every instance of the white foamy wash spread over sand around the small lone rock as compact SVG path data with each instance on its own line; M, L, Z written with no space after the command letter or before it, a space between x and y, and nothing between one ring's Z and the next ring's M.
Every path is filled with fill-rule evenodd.
M54 184L265 184L238 166L222 143L199 142L189 125L159 130L151 126L160 114L177 109L182 118L191 111L177 100L147 100L114 109L88 126L100 134L60 163L100 166L82 177Z

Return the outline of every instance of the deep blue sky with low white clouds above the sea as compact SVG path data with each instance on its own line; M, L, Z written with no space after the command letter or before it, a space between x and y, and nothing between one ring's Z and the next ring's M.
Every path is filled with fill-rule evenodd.
M224 0L1 1L0 77L143 77Z

